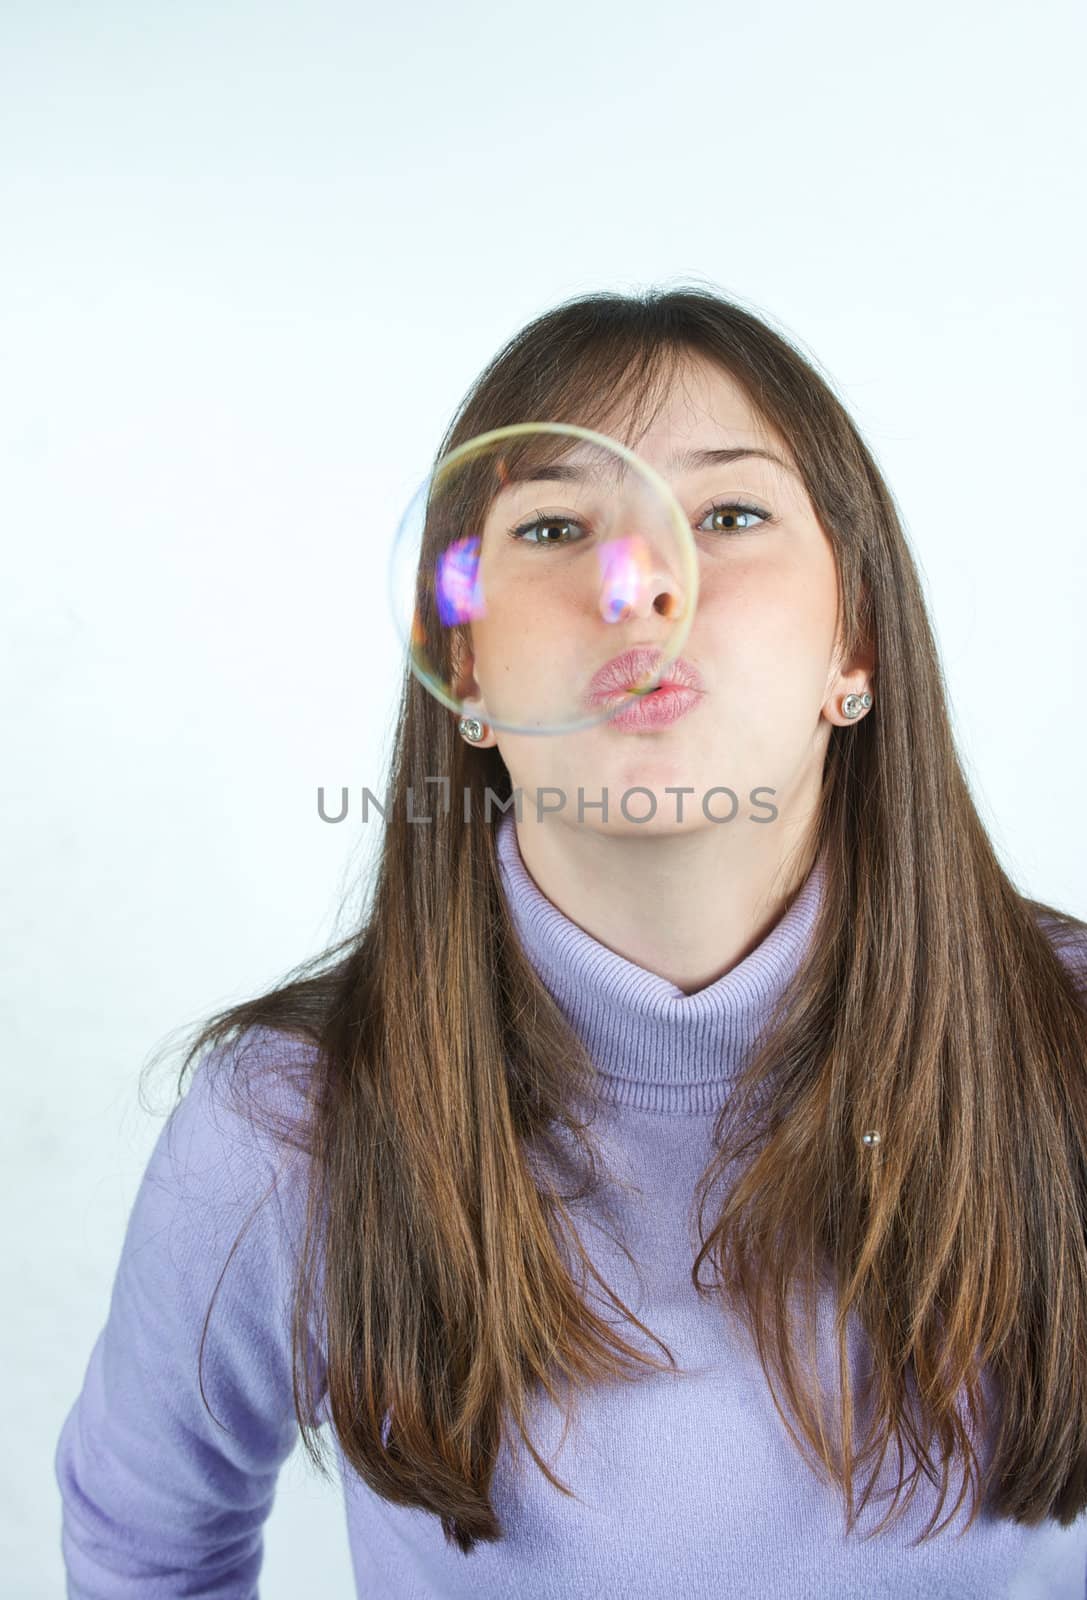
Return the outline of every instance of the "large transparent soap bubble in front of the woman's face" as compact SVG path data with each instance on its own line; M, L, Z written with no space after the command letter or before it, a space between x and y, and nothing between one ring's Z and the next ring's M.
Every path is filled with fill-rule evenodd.
M519 422L427 475L389 584L411 670L443 706L554 734L658 690L690 632L698 558L679 501L632 450Z

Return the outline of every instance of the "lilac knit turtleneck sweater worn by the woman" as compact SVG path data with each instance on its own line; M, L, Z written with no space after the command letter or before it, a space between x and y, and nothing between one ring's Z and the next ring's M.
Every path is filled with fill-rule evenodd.
M864 1541L896 1482L893 1451L874 1504L847 1536L840 1491L821 1483L789 1440L749 1341L692 1286L700 1243L692 1200L712 1154L714 1114L805 950L821 866L749 955L685 995L599 944L539 891L512 814L498 824L498 850L522 944L599 1070L592 1136L621 1182L608 1186L607 1219L594 1216L599 1202L584 1203L581 1238L682 1373L647 1371L632 1384L599 1387L562 1448L562 1413L538 1400L530 1437L576 1498L560 1494L527 1451L517 1477L504 1443L493 1483L504 1536L467 1557L432 1515L379 1501L336 1451L360 1600L1084 1600L1087 1517L1071 1528L1025 1528L983 1510L957 1539L964 1504L943 1533L911 1549L937 1501L922 1477L904 1518ZM304 1066L303 1045L269 1032L250 1040L279 1062L301 1058ZM69 1600L258 1594L263 1523L298 1440L288 1296L303 1184L298 1166L280 1179L219 1288L203 1378L224 1432L197 1379L203 1314L277 1166L271 1136L242 1120L221 1091L229 1056L203 1058L158 1136L109 1317L61 1430ZM626 1242L634 1266L608 1232ZM604 1314L616 1315L610 1306ZM620 1331L661 1355L632 1326ZM856 1370L855 1330L852 1355ZM821 1307L820 1373L836 1395L829 1306ZM985 1450L981 1459L988 1464ZM959 1486L953 1475L941 1518Z

